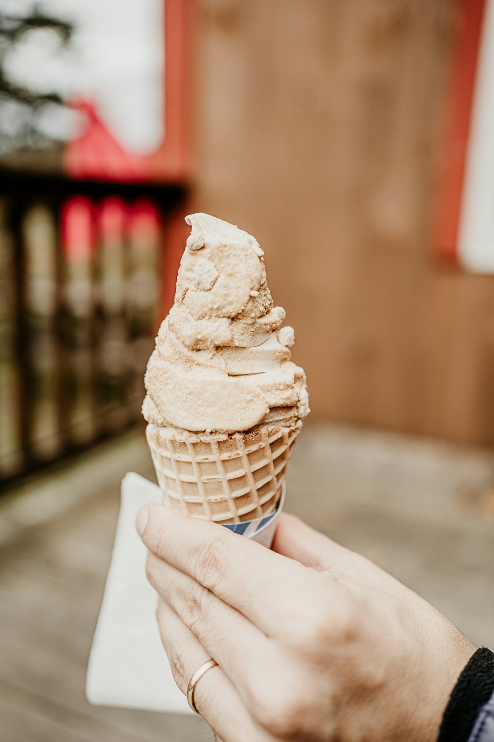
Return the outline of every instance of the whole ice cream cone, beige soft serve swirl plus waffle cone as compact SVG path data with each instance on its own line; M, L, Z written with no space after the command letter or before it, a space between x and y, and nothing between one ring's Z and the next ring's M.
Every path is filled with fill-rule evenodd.
M295 333L257 240L209 214L186 221L175 301L144 378L147 442L168 508L225 525L262 520L309 413L304 370L290 361Z

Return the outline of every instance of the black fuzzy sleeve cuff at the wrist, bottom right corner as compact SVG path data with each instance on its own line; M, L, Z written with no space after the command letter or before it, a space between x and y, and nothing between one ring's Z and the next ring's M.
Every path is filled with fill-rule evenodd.
M458 677L444 711L438 742L467 742L479 709L494 691L494 654L478 649Z

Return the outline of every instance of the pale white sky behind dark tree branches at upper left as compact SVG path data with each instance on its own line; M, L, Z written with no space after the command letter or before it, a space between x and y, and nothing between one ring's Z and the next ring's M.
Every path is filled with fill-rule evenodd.
M0 4L13 15L33 7L30 0ZM33 31L7 59L7 72L36 91L91 96L121 144L153 151L164 136L163 5L164 0L43 0L41 10L73 22L70 46L60 51L52 32ZM73 126L70 117L44 122L56 135L68 136Z

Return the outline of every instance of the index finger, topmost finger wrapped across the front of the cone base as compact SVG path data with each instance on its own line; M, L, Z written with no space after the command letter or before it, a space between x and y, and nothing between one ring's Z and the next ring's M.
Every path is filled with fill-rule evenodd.
M144 523L143 523L144 521ZM193 577L270 636L307 591L305 568L228 528L146 505L136 523L149 551Z

